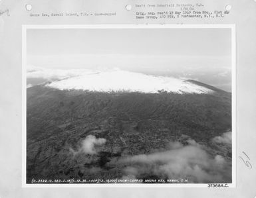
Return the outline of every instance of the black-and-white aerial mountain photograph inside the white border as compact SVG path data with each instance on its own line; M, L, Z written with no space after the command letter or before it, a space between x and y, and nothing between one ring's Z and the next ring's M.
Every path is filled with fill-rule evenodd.
M27 183L233 182L231 28L26 35Z

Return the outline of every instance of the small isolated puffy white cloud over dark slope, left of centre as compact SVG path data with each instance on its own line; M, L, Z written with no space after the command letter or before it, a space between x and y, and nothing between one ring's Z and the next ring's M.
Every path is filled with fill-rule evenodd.
M74 151L70 148L70 151L75 155L78 153L90 154L94 155L97 154L96 146L102 146L106 143L105 138L96 138L95 136L88 135L82 142L80 142L80 146L77 151Z

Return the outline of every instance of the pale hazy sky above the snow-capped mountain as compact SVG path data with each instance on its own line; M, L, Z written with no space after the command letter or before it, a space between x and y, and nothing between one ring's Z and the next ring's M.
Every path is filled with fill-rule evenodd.
M119 68L172 75L231 90L227 28L27 30L27 64L43 68Z

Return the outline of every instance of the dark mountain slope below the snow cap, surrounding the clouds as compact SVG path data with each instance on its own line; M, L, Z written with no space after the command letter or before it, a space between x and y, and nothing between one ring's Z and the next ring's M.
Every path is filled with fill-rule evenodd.
M230 162L231 147L216 146L212 138L231 130L231 93L208 88L215 92L100 93L61 91L44 85L28 88L27 183L32 178L122 178L126 164L120 159L164 152L170 149L170 142L185 146L186 138L205 146L209 156L218 154ZM96 145L94 154L74 154L89 135L106 142ZM150 172L136 175L159 177Z

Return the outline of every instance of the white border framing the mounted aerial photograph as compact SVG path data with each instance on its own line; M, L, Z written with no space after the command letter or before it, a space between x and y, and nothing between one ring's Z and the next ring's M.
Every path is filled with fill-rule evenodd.
M107 29L107 28L230 28L232 58L232 183L236 187L236 39L235 25L23 25L22 26L22 187L208 187L208 183L26 183L27 170L27 30L28 29Z

